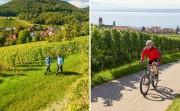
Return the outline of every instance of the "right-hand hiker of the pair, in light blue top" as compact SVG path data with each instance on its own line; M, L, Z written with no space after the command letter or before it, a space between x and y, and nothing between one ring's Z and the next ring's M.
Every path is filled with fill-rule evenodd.
M63 58L61 57L60 54L57 55L57 70L55 76L58 74L59 68L61 69L61 72L63 72Z

